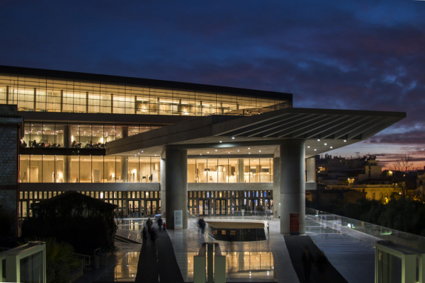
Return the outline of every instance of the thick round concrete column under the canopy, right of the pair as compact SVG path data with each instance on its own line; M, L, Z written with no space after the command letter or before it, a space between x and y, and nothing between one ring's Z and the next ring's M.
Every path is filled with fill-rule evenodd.
M290 214L299 215L305 233L305 141L287 139L280 144L280 233L290 233Z

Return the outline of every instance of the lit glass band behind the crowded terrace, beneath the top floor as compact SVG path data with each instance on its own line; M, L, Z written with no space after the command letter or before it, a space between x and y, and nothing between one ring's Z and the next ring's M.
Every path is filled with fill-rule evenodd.
M21 147L104 149L109 141L159 127L162 126L26 121Z

